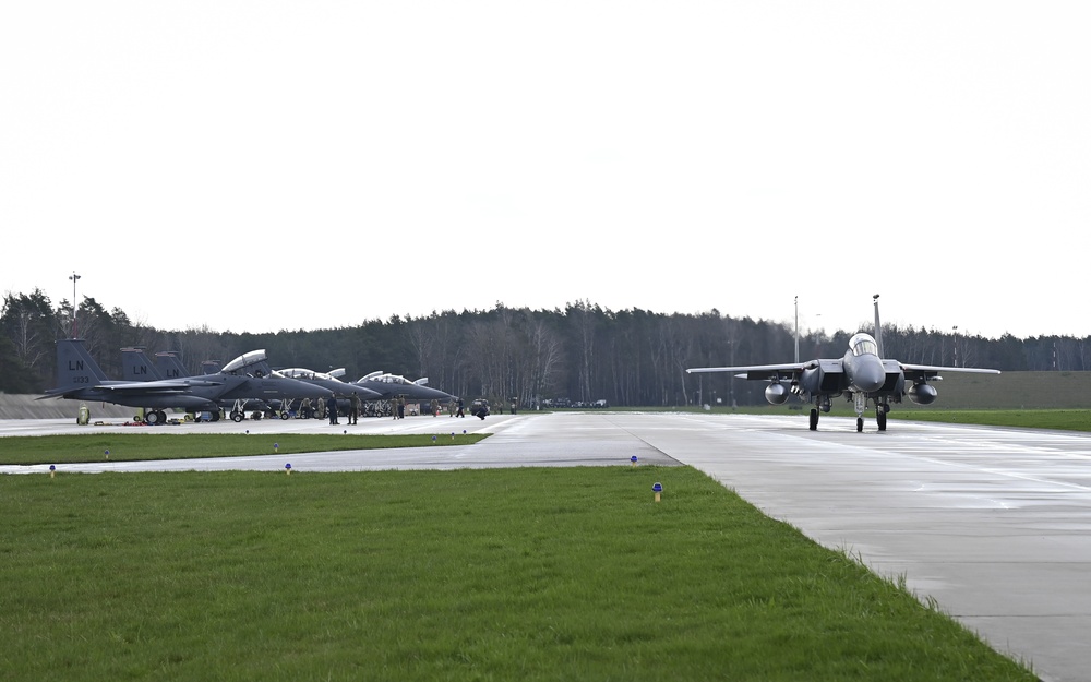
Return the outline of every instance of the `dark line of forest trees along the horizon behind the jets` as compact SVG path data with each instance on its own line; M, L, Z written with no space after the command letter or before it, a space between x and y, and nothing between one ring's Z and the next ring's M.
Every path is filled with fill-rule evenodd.
M800 357L844 352L851 332L807 331ZM275 333L217 332L207 327L164 331L107 310L84 297L79 308L53 304L40 290L4 295L0 311L0 392L37 394L56 383L59 338L85 339L111 379L121 379L124 347L149 354L177 351L193 374L206 360L227 362L265 349L274 367L328 372L347 381L372 371L429 379L429 385L464 398L485 397L529 406L547 398L615 406L763 404L764 383L728 374L686 374L690 367L790 362L795 333L787 323L639 309L611 311L588 301L553 310L507 308L392 316L352 327ZM1003 371L1087 371L1087 338L1000 338L924 327L884 325L886 356L903 362L990 367Z

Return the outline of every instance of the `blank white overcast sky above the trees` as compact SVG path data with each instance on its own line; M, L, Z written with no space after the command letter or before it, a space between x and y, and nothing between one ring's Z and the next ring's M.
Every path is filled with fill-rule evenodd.
M1091 5L0 4L0 292L1091 335Z

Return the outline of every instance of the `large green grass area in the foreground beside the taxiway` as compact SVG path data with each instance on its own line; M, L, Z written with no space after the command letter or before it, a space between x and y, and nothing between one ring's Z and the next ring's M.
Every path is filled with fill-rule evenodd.
M0 516L9 680L1034 679L688 467L3 476Z

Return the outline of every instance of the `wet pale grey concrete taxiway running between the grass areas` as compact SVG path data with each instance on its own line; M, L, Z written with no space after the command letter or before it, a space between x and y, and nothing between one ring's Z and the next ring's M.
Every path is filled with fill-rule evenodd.
M291 455L292 470L509 466L691 465L769 516L822 545L849 551L876 573L904 578L922 600L1031 665L1043 680L1091 679L1091 435L891 420L855 432L854 420L799 416L658 412L496 415L473 418L263 420L158 427L160 434L245 432L406 433L476 445ZM148 430L148 428L142 428ZM0 421L0 436L128 432L70 420ZM0 441L0 452L2 452ZM283 470L265 455L167 463L88 463L62 471ZM0 472L35 474L35 467ZM669 491L670 494L684 494Z

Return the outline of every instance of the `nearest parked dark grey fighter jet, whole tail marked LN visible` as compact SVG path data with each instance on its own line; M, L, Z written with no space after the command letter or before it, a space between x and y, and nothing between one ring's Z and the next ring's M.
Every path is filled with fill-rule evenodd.
M94 400L145 408L145 421L159 423L164 409L183 408L218 414L223 400L287 397L327 398L331 392L283 376L269 376L255 367L264 350L241 355L215 374L155 381L111 381L83 346L83 339L57 342L57 384L41 398Z

